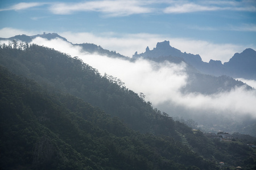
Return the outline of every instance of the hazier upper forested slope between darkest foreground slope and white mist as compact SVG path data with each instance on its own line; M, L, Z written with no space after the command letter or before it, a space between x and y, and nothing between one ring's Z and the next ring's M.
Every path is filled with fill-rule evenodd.
M138 94L120 87L121 80L102 77L78 58L32 45L27 50L0 49L0 63L15 74L35 79L49 91L68 92L118 116L134 130L179 139L171 117L166 118Z

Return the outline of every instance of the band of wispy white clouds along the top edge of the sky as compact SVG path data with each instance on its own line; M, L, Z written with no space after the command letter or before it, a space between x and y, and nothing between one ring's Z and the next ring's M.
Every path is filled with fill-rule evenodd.
M48 10L52 14L70 15L74 12L101 12L108 16L127 16L134 14L147 13L166 13L166 14L181 14L200 11L247 11L255 12L256 5L254 1L85 1L85 2L22 2L11 7L0 9L6 10L24 10L36 6L48 5ZM167 7L166 7L167 6Z

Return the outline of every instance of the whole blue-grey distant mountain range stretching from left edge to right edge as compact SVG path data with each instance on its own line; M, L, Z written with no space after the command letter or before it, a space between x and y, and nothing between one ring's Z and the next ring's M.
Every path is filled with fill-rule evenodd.
M0 40L16 40L23 42L31 42L36 37L42 37L47 40L51 39L62 39L64 41L69 42L64 37L61 37L57 33L43 33L34 36L27 35L16 35L10 38L0 38ZM69 42L72 44L72 42ZM116 53L115 51L110 51L107 49L103 49L100 45L83 43L83 44L72 44L76 46L81 46L82 50L88 53L98 53L101 55L106 55L108 57L118 57L124 59L130 59L122 54ZM170 41L158 42L156 44L156 48L150 50L147 46L146 51L144 53L138 54L135 52L133 55L133 59L137 59L139 57L153 59L154 61L164 61L168 60L170 62L179 63L184 61L188 63L188 65L194 67L202 74L209 74L214 76L222 76L228 75L233 78L245 78L245 79L254 79L256 80L256 52L253 49L245 49L242 53L236 53L232 58L230 58L229 62L225 62L224 64L221 61L216 61L210 59L209 62L204 62L199 54L191 54L186 52L181 52L179 49L176 49L170 45Z

